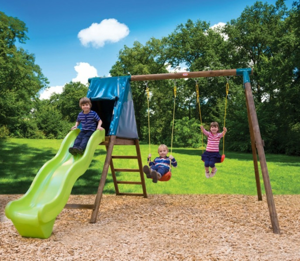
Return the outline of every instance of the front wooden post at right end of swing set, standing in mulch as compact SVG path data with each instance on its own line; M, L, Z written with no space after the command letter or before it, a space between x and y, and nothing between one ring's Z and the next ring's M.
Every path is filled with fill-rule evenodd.
M246 78L246 76L244 75L244 79L245 78ZM267 170L267 166L266 166L266 160L265 160L262 140L261 140L261 136L260 136L260 130L259 130L259 126L258 126L258 120L257 120L256 111L255 111L254 100L253 100L250 82L244 81L244 88L245 88L245 95L246 95L246 100L247 100L247 104L248 104L248 108L249 108L250 122L252 123L252 129L253 129L257 152L258 152L258 157L259 157L259 163L260 163L263 184L264 184L264 189L265 189L265 194L266 194L267 206L269 209L269 214L270 214L270 219L271 219L271 224L272 224L272 230L273 230L274 234L280 235L280 228L279 228L275 203L274 203L274 199L273 199L273 193L272 193L272 189L271 189L270 179L269 179L269 175L268 175L268 170Z

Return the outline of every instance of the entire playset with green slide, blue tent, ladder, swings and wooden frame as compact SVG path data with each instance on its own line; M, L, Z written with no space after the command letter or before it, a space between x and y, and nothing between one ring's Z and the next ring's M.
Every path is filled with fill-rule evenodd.
M101 133L95 132L94 133L95 135L93 134L94 138L91 138L89 140L89 144L90 144L90 146L88 147L89 149L87 148L85 150L84 155L82 155L82 157L77 157L76 159L72 158L72 156L70 156L69 153L67 153L66 156L64 155L64 152L67 151L67 148L70 147L69 145L71 145L73 140L75 139L76 132L71 132L70 135L67 135L61 144L61 149L59 149L58 153L56 154L57 157L55 156L53 158L53 160L55 161L52 160L48 161L51 164L52 162L54 162L55 164L47 165L46 163L44 166L50 166L50 167L49 168L42 167L40 172L36 175L37 178L35 177L34 179L34 180L38 179L38 181L40 181L41 179L43 186L46 186L46 188L51 188L51 194L47 194L48 193L47 189L41 189L43 187L40 188L40 184L41 184L40 182L33 181L32 186L30 186L30 188L34 188L35 190L30 190L29 188L28 192L30 193L32 192L33 194L35 193L34 197L32 197L30 193L28 194L26 193L24 195L24 199L26 200L25 203L27 204L26 211L28 210L29 211L28 213L30 215L27 212L26 215L24 214L25 212L22 212L24 210L24 206L23 204L18 204L18 202L16 203L13 202L13 204L11 203L9 205L9 206L13 205L16 207L10 208L6 206L5 213L6 210L7 213L9 214L13 212L12 216L16 218L15 219L16 224L21 231L19 233L26 237L39 237L39 238L49 237L52 232L55 218L58 215L58 213L62 210L63 206L64 208L68 208L68 209L92 210L90 223L96 223L109 167L111 170L111 176L112 176L112 181L115 189L115 194L117 196L118 195L142 196L144 198L147 198L130 81L148 81L148 80L216 77L216 76L242 76L248 123L249 123L249 131L250 131L257 197L259 201L262 200L259 171L258 171L258 161L257 161L256 153L258 154L259 157L260 169L263 178L263 184L264 184L264 189L266 194L267 206L269 209L272 230L274 234L280 234L280 228L278 224L274 199L272 195L272 189L270 185L270 180L269 180L269 175L268 175L268 170L267 170L266 160L265 160L265 155L263 150L263 141L260 136L257 115L256 115L254 100L251 91L251 85L249 79L250 74L252 74L252 69L244 68L244 69L230 69L230 70L184 72L184 73L132 75L132 76L106 77L106 78L95 77L95 78L88 79L88 82L90 84L86 96L91 100L92 103L91 109L93 111L96 111L97 114L100 116L102 120L102 126L105 129L105 133L104 131L102 131ZM227 79L226 100L228 95L228 89L229 89L229 85ZM198 94L197 82L196 82L196 92L197 92L197 101L198 101L199 94ZM148 93L149 92L147 92L147 96ZM176 86L174 86L174 108L175 108L175 98L176 98ZM226 103L225 103L225 115L226 115ZM149 113L149 109L148 109L148 113ZM200 107L199 107L199 114L200 114L200 121L202 122ZM149 119L149 115L148 115L148 119ZM224 116L224 126L225 126L225 116ZM148 127L149 127L149 123L148 123ZM174 110L173 110L173 127L174 127ZM173 140L173 127L172 127L171 140ZM149 138L150 138L150 134L149 134ZM71 184L74 184L75 182L74 176L76 175L80 176L81 173L82 174L84 173L83 170L85 170L89 165L85 163L88 162L88 160L91 161L92 155L96 147L98 146L98 144L105 146L106 156L105 156L105 161L103 164L94 204L66 204L69 196L68 193L71 192L71 187L72 187ZM149 140L149 144L150 144L150 140ZM224 139L223 139L223 144L224 144ZM112 154L113 148L114 146L117 145L120 146L133 145L135 146L136 154L130 156L127 154L113 155ZM171 142L171 151L172 151L172 142ZM223 155L224 155L224 145L223 145ZM135 159L137 160L138 168L136 169L115 168L113 163L114 159L119 159L119 160ZM67 162L67 164L64 164L64 162ZM79 164L77 163L84 163L80 165L82 168L80 168L80 170L77 171L78 173L75 171L75 169L76 170L78 169L77 166L79 166ZM138 173L140 181L119 180L122 177L118 176L117 173L120 172ZM74 173L76 175L73 175ZM170 172L169 175L165 174L163 176L165 176L165 178L168 177L168 179L170 179L171 177ZM59 178L59 180L60 179L63 180L63 185L65 185L65 188L67 189L61 189L60 188L61 182L57 182L56 178ZM120 192L118 187L119 184L139 185L141 186L142 193ZM55 197L53 197L53 195L55 195ZM39 202L40 196L44 196L44 198L42 198L43 199L42 202ZM55 198L55 200L60 199L59 204L57 203L58 201L53 201L52 200L53 198ZM37 200L37 202L35 200ZM36 206L40 208L40 211L43 211L42 213L45 213L45 215L39 215L37 209L35 208L32 209L31 203L36 204ZM59 206L56 206L54 208L53 204L55 206L56 205ZM30 225L30 228L32 229L28 229L28 225ZM27 233L29 233L29 235Z

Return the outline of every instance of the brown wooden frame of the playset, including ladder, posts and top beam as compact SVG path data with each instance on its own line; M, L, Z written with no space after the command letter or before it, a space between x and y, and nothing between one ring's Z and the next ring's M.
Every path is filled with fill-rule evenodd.
M181 79L181 78L199 78L199 77L217 77L217 76L242 76L243 77L243 87L246 98L247 116L250 130L251 139L251 150L253 156L254 173L257 189L258 201L262 201L260 181L259 181L259 171L258 171L258 161L257 154L259 157L260 169L263 178L263 184L265 189L265 195L267 200L267 206L270 215L270 221L272 226L272 231L274 234L280 235L280 228L278 224L278 218L275 208L275 203L273 199L272 189L270 185L269 174L266 165L266 159L263 149L263 141L261 139L260 130L258 126L258 120L256 115L256 110L254 106L254 100L250 85L249 75L253 73L252 68L244 69L229 69L229 70L211 70L211 71L196 71L196 72L178 72L178 73L162 73L162 74L148 74L148 75L132 75L131 81L148 81L148 80L163 80L163 79ZM113 184L115 188L116 195L127 195L127 196L143 196L147 198L144 174L142 171L142 161L139 149L138 139L124 139L119 138L114 135L105 137L105 141L99 145L104 145L106 148L106 157L102 169L101 178L99 181L99 186L95 198L95 202L92 205L82 205L82 204L66 204L65 208L71 209L90 209L92 210L90 223L96 223L97 215L99 212L99 207L101 203L101 198L103 194L103 188L105 185L108 169L110 167ZM134 145L136 148L136 155L134 156L113 156L113 146L114 145ZM257 151L257 152L256 152ZM138 169L116 169L114 168L113 159L136 159L138 163ZM117 181L115 172L138 172L140 175L140 182L130 182L130 181ZM120 193L118 189L118 184L133 184L141 185L141 194L136 193Z

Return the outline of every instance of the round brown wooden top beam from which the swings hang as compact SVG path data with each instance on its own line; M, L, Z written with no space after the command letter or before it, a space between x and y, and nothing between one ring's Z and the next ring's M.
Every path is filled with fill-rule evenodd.
M131 75L130 80L147 81L147 80L166 80L166 79L200 78L200 77L215 77L215 76L236 76L236 75L242 75L242 72L244 71L247 71L248 74L253 73L252 68L214 70L214 71L192 71L192 72Z

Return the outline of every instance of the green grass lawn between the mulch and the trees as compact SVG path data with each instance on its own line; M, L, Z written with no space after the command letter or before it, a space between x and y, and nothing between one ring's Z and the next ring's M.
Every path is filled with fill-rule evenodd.
M62 140L9 139L0 141L0 194L23 194L41 166L54 157ZM143 164L149 153L148 145L140 145ZM152 157L158 155L157 146L151 146ZM226 152L223 163L217 164L215 177L206 179L200 160L202 150L173 148L178 167L172 169L168 182L154 184L146 179L148 194L243 194L257 195L252 154ZM115 146L113 155L134 155L134 146ZM72 194L96 194L106 150L98 146L93 160L74 184ZM267 167L274 195L300 193L298 173L300 157L266 154ZM136 160L113 160L115 168L137 168ZM259 169L260 171L260 169ZM261 172L260 172L261 176ZM138 181L138 173L117 173L120 181ZM260 177L262 193L264 186ZM120 192L141 193L139 185L119 185ZM104 194L114 194L110 169Z

